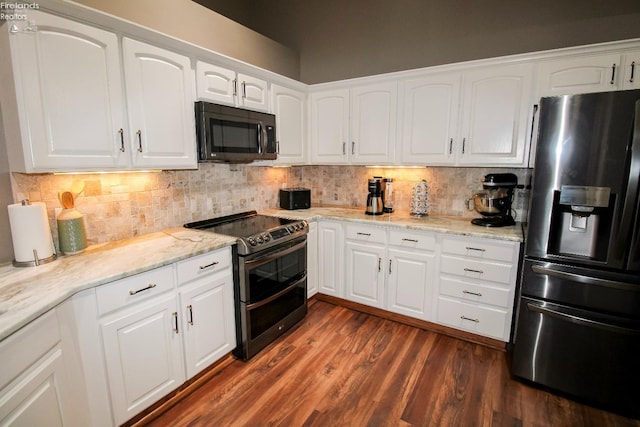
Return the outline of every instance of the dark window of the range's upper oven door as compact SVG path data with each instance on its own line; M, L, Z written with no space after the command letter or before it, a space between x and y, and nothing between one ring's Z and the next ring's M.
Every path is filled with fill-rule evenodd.
M279 256L248 269L248 303L254 304L280 292L307 271L307 247Z

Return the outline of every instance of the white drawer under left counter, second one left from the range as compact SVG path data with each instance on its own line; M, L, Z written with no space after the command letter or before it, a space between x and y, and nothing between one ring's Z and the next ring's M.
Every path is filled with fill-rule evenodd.
M98 314L136 304L174 289L173 267L166 266L96 288Z

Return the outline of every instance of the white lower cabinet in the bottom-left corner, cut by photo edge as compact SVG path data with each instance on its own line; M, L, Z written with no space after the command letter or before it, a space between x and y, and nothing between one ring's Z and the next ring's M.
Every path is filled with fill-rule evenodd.
M0 425L85 425L74 409L60 341L51 310L0 343Z

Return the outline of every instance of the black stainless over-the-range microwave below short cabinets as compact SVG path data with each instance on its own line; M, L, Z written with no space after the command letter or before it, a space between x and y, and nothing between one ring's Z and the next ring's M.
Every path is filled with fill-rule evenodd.
M275 160L276 116L198 101L198 161L250 163Z

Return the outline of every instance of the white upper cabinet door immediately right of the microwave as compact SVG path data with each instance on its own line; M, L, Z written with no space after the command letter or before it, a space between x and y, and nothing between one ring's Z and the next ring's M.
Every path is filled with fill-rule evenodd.
M271 100L276 115L278 144L278 160L275 163L306 163L306 94L274 84L271 85Z

